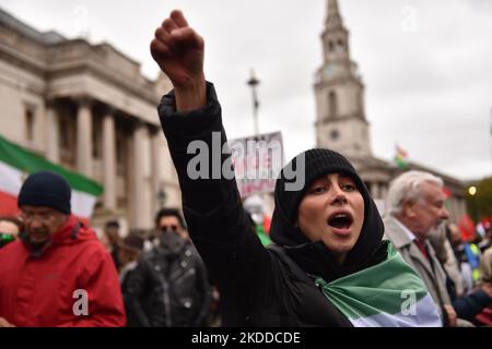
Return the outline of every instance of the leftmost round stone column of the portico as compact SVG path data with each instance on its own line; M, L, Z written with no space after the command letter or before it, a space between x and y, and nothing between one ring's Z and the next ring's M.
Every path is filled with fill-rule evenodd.
M89 98L79 98L77 112L77 169L92 177L92 110Z

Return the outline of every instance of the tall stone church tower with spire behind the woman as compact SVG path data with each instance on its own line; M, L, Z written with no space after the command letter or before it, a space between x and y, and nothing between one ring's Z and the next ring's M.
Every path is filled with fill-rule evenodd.
M328 0L323 67L316 74L316 144L355 159L372 156L364 84L350 59L349 32L337 0Z

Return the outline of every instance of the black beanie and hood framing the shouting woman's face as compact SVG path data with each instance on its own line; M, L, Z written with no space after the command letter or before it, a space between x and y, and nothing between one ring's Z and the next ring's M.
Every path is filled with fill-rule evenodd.
M289 183L285 170L298 166L305 167L305 181L297 191L286 190ZM294 225L298 204L311 183L317 178L341 173L349 176L364 200L364 222L359 240L348 253L342 265L321 241L311 241ZM272 216L270 237L281 245L306 273L320 276L330 281L377 264L386 257L383 244L384 225L367 188L352 165L340 154L329 149L312 149L296 156L280 173L274 191L276 208Z

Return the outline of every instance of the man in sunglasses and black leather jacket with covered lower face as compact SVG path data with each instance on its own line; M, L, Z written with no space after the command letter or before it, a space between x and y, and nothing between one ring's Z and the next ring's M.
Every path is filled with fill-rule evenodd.
M211 289L183 216L163 208L155 228L153 249L142 255L128 281L128 312L144 327L207 326Z

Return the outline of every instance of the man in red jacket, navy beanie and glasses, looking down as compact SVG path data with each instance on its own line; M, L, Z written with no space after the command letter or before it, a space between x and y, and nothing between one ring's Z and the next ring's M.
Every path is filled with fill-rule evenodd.
M70 200L70 185L52 172L22 185L25 230L0 250L0 327L125 326L112 257Z

